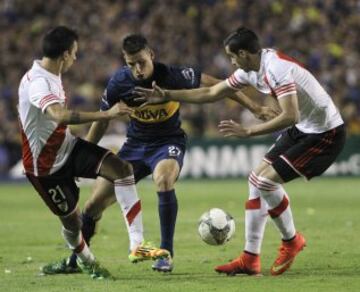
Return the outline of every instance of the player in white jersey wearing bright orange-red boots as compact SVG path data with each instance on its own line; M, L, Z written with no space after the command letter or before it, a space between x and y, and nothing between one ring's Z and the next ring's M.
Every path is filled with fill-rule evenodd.
M277 226L282 242L271 266L272 275L284 273L305 246L296 231L288 195L283 184L297 177L307 180L321 175L336 159L345 143L345 127L331 97L294 59L273 49L262 49L257 35L238 28L224 41L227 55L237 70L212 87L192 90L137 88L134 94L149 103L175 100L213 102L229 97L245 86L271 94L281 112L262 124L244 127L232 120L219 124L226 137L251 137L286 129L249 176L245 204L245 248L232 262L215 268L228 275L261 272L260 249L267 215Z

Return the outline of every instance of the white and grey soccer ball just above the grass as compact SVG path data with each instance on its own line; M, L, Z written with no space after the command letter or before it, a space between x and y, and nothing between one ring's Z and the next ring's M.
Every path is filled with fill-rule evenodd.
M225 211L213 208L201 215L198 232L207 244L222 245L234 235L235 221Z

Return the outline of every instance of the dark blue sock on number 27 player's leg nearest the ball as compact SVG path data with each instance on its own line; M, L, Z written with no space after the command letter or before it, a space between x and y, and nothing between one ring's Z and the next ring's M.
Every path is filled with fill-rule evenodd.
M159 196L159 217L161 230L160 247L170 251L174 255L173 241L175 232L175 223L177 216L177 199L175 190L158 192Z

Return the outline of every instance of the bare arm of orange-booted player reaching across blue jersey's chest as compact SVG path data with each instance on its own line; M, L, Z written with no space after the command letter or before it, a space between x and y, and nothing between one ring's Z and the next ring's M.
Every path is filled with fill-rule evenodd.
M211 87L202 87L188 90L166 90L153 83L153 88L136 87L134 95L136 100L147 101L147 104L156 104L166 101L179 101L187 103L208 103L220 100L233 93L234 90L225 81Z

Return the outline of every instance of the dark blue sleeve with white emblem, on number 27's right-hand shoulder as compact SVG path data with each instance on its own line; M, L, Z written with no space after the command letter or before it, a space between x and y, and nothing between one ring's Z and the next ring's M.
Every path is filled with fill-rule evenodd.
M200 87L201 71L191 67L170 67L174 88L191 89Z

